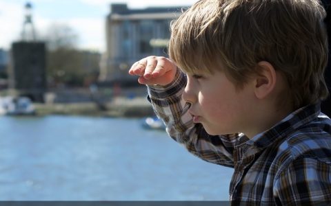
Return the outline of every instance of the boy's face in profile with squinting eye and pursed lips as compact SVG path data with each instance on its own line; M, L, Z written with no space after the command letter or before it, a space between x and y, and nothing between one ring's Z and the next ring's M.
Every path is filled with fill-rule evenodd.
M194 123L201 123L210 135L245 133L252 130L252 90L236 89L221 71L212 75L188 75L183 99L190 102Z

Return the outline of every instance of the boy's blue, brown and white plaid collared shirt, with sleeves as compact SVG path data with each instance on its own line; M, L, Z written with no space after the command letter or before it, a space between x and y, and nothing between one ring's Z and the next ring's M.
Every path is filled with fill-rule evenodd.
M208 135L181 98L186 78L149 86L148 99L170 137L201 159L234 168L231 205L331 205L331 121L319 105L300 108L270 130ZM221 183L221 182L220 182Z

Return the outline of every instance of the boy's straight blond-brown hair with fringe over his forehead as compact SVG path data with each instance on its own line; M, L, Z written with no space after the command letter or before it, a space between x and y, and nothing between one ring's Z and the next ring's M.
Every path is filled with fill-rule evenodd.
M316 104L328 96L325 15L317 0L201 0L172 23L168 52L184 71L220 69L238 87L268 61L294 108Z

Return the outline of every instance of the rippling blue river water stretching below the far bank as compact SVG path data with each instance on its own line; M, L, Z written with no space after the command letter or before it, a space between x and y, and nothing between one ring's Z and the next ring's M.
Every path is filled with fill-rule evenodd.
M0 117L0 201L228 201L231 168L140 122Z

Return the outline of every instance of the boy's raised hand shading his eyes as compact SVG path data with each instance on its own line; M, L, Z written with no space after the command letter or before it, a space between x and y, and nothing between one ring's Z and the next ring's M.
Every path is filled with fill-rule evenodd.
M129 70L130 75L139 76L140 84L170 84L176 75L177 66L169 58L148 56L135 62Z

